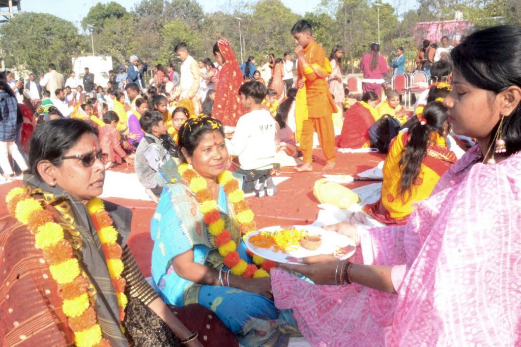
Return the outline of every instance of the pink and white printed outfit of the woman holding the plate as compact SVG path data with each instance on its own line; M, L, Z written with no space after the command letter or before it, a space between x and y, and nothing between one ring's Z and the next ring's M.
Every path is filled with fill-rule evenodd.
M398 295L276 270L276 306L314 346L521 344L521 153L477 159L474 147L452 165L407 225L361 231L353 261L402 265Z

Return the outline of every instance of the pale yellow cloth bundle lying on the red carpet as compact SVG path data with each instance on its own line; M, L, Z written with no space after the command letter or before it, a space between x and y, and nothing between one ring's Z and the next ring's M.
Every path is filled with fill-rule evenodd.
M358 202L359 197L351 189L338 183L329 182L327 178L318 179L313 185L313 195L320 203L329 203L341 209L349 209Z

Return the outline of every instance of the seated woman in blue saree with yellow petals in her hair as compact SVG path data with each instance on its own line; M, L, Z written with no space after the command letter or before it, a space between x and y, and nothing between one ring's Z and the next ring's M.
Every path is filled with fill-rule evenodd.
M228 163L221 123L210 117L189 119L178 140L181 162L189 164L194 177L204 178L204 193L217 203L240 258L252 264L241 240L237 201L230 201L234 199L219 181ZM181 171L180 175L183 179L165 186L152 219L152 277L157 291L167 303L199 303L214 311L244 346L287 345L289 337L300 332L291 312L276 309L269 277L234 275L233 267L228 272L218 237L210 233L201 211L207 201L200 202L194 179L187 182ZM233 179L242 186L242 176Z

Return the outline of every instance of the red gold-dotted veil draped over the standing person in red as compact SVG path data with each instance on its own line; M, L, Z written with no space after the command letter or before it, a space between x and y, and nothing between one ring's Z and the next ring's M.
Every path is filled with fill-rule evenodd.
M230 42L221 37L217 45L225 59L225 64L217 75L212 116L222 121L224 125L235 126L239 117L246 113L239 96L239 88L244 80L237 58L235 58L230 47Z

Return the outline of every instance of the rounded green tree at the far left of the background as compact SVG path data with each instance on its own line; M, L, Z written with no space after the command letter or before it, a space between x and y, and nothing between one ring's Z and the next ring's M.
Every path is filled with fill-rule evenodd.
M71 22L34 12L23 12L0 26L0 44L8 66L35 73L46 72L49 63L69 71L71 57L86 48Z

